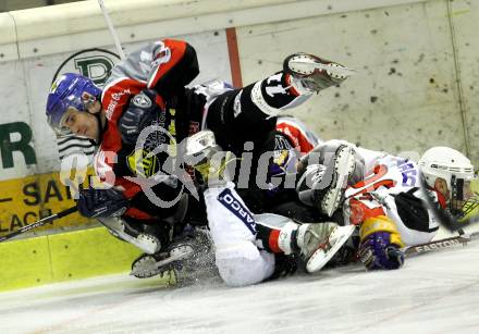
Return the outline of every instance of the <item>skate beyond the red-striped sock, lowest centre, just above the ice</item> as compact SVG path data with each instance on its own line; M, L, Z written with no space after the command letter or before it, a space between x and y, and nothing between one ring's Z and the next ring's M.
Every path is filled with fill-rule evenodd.
M321 270L347 242L355 231L355 225L339 226L336 223L308 224L303 235L298 235L299 256L306 271L314 273ZM302 233L298 228L298 234Z

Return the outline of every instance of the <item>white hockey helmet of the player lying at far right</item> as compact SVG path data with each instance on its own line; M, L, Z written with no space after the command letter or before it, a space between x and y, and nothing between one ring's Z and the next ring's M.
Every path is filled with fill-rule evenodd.
M470 160L455 149L438 146L430 148L422 154L419 168L429 187L434 188L438 177L446 182L450 190L450 196L446 198L451 202L450 210L454 214L459 214L457 211L459 208L454 208L457 205L455 201L460 201L464 205L472 195L470 183L475 178L475 174ZM452 206L453 202L455 202L454 206Z

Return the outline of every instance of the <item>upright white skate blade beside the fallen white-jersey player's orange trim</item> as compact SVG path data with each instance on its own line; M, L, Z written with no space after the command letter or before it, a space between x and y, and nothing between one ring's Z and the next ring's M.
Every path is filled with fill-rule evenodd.
M334 168L333 180L321 197L320 209L322 213L332 217L337 207L340 207L347 187L347 182L355 166L356 158L354 148L346 145L340 146L335 152L334 165L331 166Z

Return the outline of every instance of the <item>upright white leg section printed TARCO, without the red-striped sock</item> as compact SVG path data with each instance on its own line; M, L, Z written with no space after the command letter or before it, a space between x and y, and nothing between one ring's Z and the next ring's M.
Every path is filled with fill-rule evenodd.
M202 196L220 276L231 286L250 285L272 275L274 256L260 251L254 243L256 222L229 181L228 157L210 131L186 141L185 161L205 184Z

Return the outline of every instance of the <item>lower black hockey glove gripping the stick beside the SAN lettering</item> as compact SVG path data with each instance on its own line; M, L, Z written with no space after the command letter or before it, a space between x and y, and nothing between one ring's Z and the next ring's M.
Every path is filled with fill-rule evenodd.
M108 218L122 215L128 208L128 200L122 193L110 189L81 189L76 202L78 212L87 218Z

